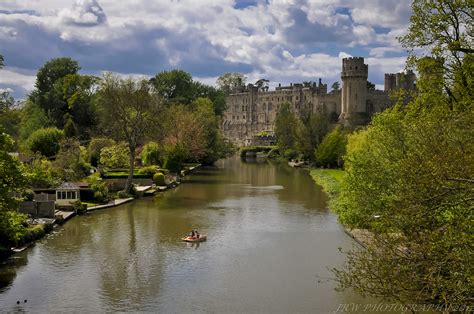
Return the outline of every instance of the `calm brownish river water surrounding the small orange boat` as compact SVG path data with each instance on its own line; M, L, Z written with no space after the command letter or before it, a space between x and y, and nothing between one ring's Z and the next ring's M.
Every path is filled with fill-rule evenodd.
M181 242L191 229L208 241ZM307 171L231 158L15 255L0 310L330 313L370 302L320 279L352 245Z

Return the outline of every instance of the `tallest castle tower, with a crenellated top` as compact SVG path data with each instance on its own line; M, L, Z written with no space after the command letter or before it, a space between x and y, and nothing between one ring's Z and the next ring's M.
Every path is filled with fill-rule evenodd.
M364 58L342 59L341 115L344 126L355 126L367 122L367 76L369 66Z

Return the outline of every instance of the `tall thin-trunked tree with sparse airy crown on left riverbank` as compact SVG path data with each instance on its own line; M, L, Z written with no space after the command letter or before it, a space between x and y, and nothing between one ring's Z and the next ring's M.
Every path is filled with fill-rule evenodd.
M151 90L148 81L120 79L106 74L102 80L98 98L100 124L105 134L127 143L129 175L124 191L132 187L136 149L154 131L161 102Z

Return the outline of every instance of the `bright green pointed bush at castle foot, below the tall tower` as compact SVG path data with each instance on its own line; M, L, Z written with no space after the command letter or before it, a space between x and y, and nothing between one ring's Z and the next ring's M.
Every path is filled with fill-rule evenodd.
M329 132L316 148L316 163L320 166L337 167L342 165L342 156L346 152L347 136L340 126Z

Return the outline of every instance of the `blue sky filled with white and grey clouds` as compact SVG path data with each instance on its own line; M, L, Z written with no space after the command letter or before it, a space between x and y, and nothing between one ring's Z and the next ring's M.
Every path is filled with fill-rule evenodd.
M271 86L340 81L364 57L369 80L404 69L411 0L0 0L0 89L21 99L48 60L82 74L147 76L181 69L215 85L226 72Z

